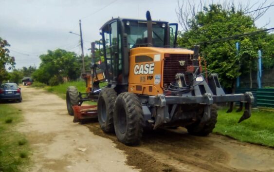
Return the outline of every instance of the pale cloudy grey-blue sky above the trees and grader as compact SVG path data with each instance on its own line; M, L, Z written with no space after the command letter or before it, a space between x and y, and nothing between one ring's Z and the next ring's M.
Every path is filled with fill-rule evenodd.
M178 1L183 3L186 0ZM39 55L46 54L47 50L61 48L81 53L80 37L69 33L79 34L79 19L82 22L84 54L89 54L90 42L101 38L99 29L111 17L146 19L146 11L149 10L153 20L178 22L178 1L0 0L0 37L11 45L10 56L16 59L16 69L30 65L38 67ZM190 0L190 3L199 1ZM259 4L264 0L234 0L234 3L239 1ZM264 6L271 2L274 0L267 0ZM205 3L209 3L208 0ZM274 27L274 6L256 21L256 26L262 27L268 22L266 28Z

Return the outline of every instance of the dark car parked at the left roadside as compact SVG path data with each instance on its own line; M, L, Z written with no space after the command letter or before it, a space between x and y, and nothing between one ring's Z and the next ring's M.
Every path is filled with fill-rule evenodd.
M4 83L0 87L0 101L18 100L22 101L21 89L16 83Z

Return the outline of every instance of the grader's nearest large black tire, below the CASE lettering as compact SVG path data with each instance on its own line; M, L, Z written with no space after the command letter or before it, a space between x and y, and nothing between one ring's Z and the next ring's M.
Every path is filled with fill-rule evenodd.
M125 145L138 145L144 131L143 110L138 96L121 93L115 102L114 129L118 140Z

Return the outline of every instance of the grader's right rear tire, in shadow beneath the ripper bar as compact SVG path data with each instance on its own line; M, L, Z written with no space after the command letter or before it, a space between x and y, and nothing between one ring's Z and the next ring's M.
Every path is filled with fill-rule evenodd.
M206 136L212 133L217 123L217 107L213 105L210 109L210 119L204 124L204 126L199 127L200 122L196 122L189 126L186 126L187 132L191 135Z

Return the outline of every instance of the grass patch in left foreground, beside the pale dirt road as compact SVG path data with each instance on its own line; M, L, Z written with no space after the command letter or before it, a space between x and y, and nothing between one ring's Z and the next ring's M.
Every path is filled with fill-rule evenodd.
M22 120L21 111L0 104L0 172L22 172L30 162L27 140L14 130Z

